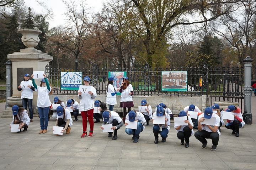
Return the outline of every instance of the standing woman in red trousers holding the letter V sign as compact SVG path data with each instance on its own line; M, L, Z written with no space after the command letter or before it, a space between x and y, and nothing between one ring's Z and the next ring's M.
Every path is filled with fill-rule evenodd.
M85 86L90 86L90 78L84 77L84 84ZM94 105L94 99L97 96L96 89L91 86L91 90L88 91L87 94L83 93L81 91L78 92L78 98L80 99L80 112L82 115L82 126L83 126L83 133L81 135L81 138L84 138L87 136L87 117L90 124L90 131L88 137L93 136L93 129L94 129L94 121L93 121L93 105Z

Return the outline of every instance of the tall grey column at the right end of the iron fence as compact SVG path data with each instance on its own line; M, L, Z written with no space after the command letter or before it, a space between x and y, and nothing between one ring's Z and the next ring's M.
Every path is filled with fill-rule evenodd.
M246 124L252 124L252 113L251 113L251 67L252 61L250 56L247 56L244 62L244 122Z

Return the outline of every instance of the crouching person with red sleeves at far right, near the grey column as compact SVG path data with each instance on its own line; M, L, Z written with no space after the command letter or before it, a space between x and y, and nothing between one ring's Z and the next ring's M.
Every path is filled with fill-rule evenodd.
M245 125L241 109L239 107L235 107L234 105L229 105L225 111L234 113L234 120L227 119L228 123L225 125L225 128L231 129L232 135L235 134L236 137L239 137L239 129Z

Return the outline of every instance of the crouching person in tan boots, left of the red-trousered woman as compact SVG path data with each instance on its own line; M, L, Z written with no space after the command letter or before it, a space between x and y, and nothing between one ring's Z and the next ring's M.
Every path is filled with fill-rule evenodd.
M58 106L56 109L57 120L55 126L63 127L61 133L66 131L66 134L70 133L71 126L73 125L73 120L68 109L64 109L62 106ZM53 130L54 131L54 130ZM59 136L56 134L56 136Z

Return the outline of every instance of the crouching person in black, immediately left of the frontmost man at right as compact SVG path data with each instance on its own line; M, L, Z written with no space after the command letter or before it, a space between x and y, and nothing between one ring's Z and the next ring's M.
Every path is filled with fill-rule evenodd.
M185 140L186 142L185 148L188 148L189 138L194 134L194 130L193 130L193 122L190 116L188 116L185 111L181 111L180 114L178 115L178 117L185 117L185 116L187 117L187 120L185 120L184 122L187 123L187 125L180 125L180 126L174 125L174 128L177 130L177 137L178 139L181 140L181 145L184 145L184 140Z

